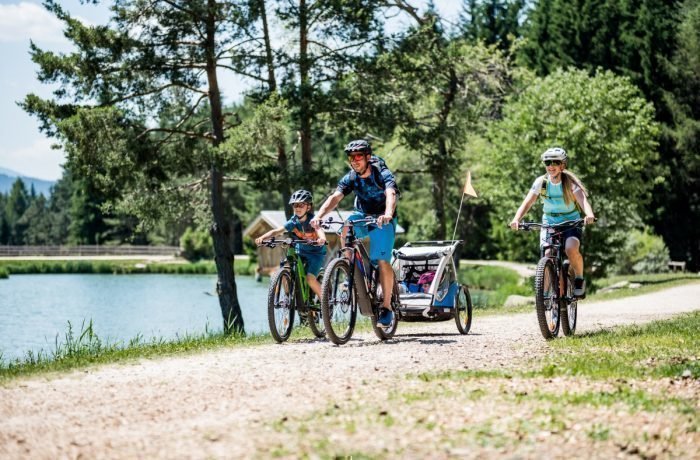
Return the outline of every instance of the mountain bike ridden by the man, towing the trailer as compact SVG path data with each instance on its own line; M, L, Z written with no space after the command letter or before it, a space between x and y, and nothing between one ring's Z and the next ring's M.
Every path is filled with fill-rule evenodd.
M367 249L360 238L355 235L356 225L376 225L377 219L367 217L354 221L333 221L322 223L324 228L330 224L347 227L343 247L338 250L338 257L326 265L326 276L321 287L321 316L326 326L326 335L331 342L342 345L350 340L355 330L357 310L363 316L369 316L374 333L381 340L394 336L399 312L399 288L394 277L391 305L394 319L388 327L377 326L377 318L384 295L379 283L379 268L369 261Z

